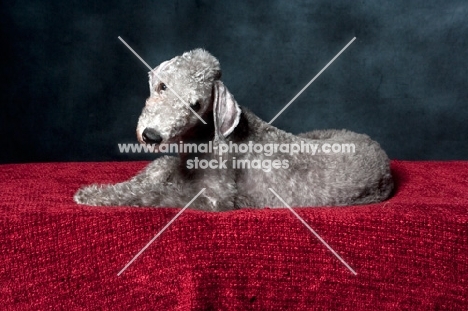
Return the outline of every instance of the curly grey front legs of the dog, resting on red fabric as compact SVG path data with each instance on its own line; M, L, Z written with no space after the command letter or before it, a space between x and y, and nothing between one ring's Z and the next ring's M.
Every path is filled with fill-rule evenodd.
M167 156L155 160L128 181L83 187L74 200L92 206L183 207L203 188L206 190L191 208L206 211L234 208L236 189L229 175L202 171L187 178L180 169L180 159Z

